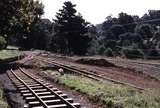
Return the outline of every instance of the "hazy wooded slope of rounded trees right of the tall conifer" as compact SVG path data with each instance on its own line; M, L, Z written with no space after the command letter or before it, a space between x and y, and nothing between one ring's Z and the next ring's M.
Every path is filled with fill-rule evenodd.
M91 51L93 54L160 58L160 10L149 10L141 18L126 13L120 13L118 18L108 16L97 25L97 34L98 43L94 42L98 48Z

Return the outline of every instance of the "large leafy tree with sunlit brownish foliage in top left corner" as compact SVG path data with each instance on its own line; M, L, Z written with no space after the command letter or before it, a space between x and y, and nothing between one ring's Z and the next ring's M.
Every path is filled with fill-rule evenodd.
M0 34L27 39L31 25L43 14L43 5L35 0L1 0ZM21 42L22 45L24 42Z

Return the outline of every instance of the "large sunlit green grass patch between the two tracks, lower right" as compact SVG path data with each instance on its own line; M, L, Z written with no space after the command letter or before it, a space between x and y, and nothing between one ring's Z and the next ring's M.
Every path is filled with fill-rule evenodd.
M86 94L93 102L104 108L160 108L160 95L111 82L98 82L89 78L64 75L58 83ZM159 93L157 93L159 94Z

